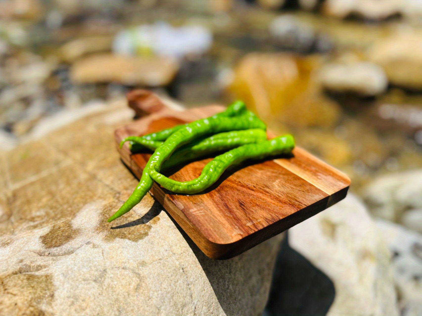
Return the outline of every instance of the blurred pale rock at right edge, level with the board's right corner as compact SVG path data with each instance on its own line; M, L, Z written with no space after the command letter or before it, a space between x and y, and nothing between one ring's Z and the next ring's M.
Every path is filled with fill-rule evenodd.
M374 215L400 222L406 212L422 208L422 170L380 176L365 187L363 195Z

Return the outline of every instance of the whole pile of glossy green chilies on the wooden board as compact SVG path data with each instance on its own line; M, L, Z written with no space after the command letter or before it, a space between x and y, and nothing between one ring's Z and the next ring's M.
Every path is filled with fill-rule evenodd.
M295 147L292 135L267 140L266 128L256 115L246 110L243 102L236 101L225 111L209 118L123 139L120 146L129 141L132 151L147 148L154 153L143 169L138 186L107 221L129 212L151 189L154 181L175 193L199 193L213 185L231 165L292 151ZM161 170L225 150L228 151L216 156L204 167L201 175L191 181L175 181L160 173Z

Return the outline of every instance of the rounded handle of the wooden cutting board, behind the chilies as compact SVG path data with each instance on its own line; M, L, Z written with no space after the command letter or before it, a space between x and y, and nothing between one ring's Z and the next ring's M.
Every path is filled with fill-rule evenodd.
M148 90L137 89L126 94L128 105L132 108L138 118L159 112L166 108L161 99Z

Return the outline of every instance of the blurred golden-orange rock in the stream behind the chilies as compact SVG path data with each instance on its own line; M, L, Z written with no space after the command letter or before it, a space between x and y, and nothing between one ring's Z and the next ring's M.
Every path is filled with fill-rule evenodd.
M241 59L229 91L266 121L298 126L333 126L340 108L312 78L319 57L248 54Z

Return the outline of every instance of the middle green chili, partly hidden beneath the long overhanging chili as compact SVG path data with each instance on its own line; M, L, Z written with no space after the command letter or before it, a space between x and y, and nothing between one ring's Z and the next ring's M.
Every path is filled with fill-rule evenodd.
M127 137L126 139L133 142L131 145L132 152L144 148L145 142L142 141L141 148L137 147L137 142L140 137ZM187 161L192 161L204 155L216 153L223 150L230 150L235 147L246 145L250 143L262 142L267 139L267 133L262 129L246 129L244 131L230 131L225 133L215 134L204 139L197 140L191 144L176 150L170 159L166 160L162 165L162 169L169 169ZM151 150L157 149L163 142L147 141L148 148Z

